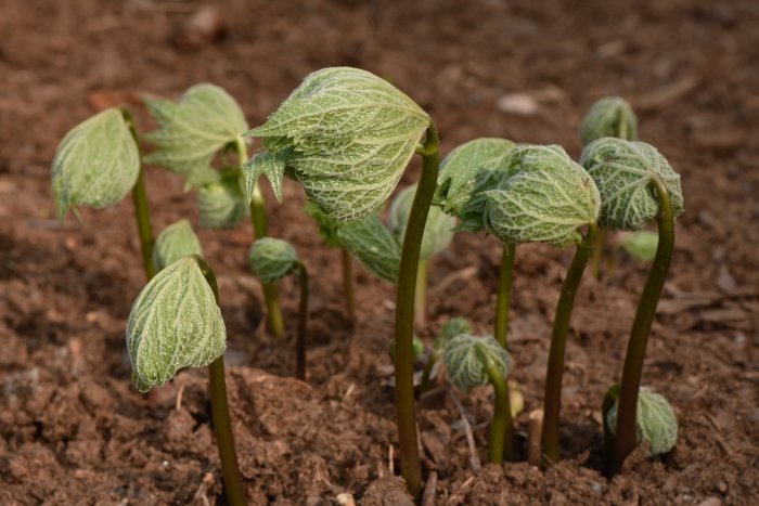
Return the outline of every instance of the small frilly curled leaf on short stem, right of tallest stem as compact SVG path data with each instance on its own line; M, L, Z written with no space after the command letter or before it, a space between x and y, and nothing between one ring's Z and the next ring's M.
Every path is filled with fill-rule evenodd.
M509 353L492 336L460 334L448 341L442 360L451 384L467 392L490 381L488 362L498 367L503 378L509 376Z

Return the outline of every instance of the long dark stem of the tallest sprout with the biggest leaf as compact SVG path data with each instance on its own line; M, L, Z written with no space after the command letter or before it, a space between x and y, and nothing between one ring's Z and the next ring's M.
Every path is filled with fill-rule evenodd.
M420 497L422 493L422 465L416 441L414 411L414 297L422 236L437 184L439 164L437 128L432 121L427 128L424 145L419 152L423 159L422 177L403 236L396 298L396 411L400 470L409 492L414 497Z

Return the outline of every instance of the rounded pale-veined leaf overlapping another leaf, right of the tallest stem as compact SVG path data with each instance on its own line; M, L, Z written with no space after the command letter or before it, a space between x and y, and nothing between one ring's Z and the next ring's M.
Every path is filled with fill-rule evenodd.
M486 192L486 225L503 243L563 248L597 220L599 190L561 146L519 146L512 166L513 174Z

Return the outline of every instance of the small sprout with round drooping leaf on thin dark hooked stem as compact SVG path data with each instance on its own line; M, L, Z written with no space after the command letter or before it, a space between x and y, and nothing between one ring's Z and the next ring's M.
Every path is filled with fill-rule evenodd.
M250 270L261 281L276 284L287 274L297 274L300 282L298 333L295 338L295 377L306 380L306 326L308 323L308 272L298 254L286 241L263 237L250 246Z

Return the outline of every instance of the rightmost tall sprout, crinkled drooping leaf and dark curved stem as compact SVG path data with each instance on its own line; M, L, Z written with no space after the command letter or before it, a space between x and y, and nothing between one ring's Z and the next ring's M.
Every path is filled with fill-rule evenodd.
M674 219L683 212L680 176L651 144L603 138L582 151L580 163L601 192L600 223L610 230L638 230L656 219L658 246L630 332L619 393L613 469L635 446L635 413L645 349L656 306L674 249Z

